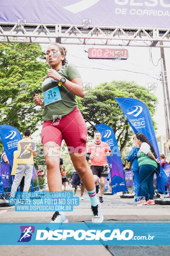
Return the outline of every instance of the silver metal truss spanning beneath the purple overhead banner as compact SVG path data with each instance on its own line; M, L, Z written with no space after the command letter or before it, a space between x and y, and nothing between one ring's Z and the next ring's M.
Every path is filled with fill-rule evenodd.
M170 47L170 29L39 23L0 23L0 42ZM161 42L164 42L162 45Z

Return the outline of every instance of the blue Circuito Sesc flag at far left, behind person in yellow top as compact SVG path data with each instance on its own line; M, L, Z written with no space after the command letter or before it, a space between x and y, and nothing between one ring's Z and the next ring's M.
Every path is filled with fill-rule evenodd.
M0 125L0 138L12 169L14 151L17 150L18 141L22 140L22 136L15 127L11 125Z

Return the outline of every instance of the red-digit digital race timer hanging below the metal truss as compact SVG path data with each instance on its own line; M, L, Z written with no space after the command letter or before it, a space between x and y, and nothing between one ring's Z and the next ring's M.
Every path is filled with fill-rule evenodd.
M89 48L88 58L126 60L128 58L128 50L127 49Z

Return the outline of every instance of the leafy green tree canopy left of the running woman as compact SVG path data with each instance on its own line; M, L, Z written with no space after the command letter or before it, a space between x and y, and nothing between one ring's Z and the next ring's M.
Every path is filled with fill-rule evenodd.
M42 93L47 67L38 44L0 44L0 124L12 125L22 134L26 128L37 130L43 109L33 98Z

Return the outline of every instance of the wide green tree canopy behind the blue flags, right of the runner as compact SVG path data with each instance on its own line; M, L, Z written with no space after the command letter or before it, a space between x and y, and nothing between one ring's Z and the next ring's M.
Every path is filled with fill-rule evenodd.
M155 130L156 123L153 120L153 115L157 98L135 82L112 81L111 83L99 84L91 89L85 98L79 100L79 108L85 122L88 123L88 135L93 137L94 125L109 125L116 135L120 150L122 150L125 145L130 145L133 131L114 99L115 97L132 97L144 102L150 111Z

